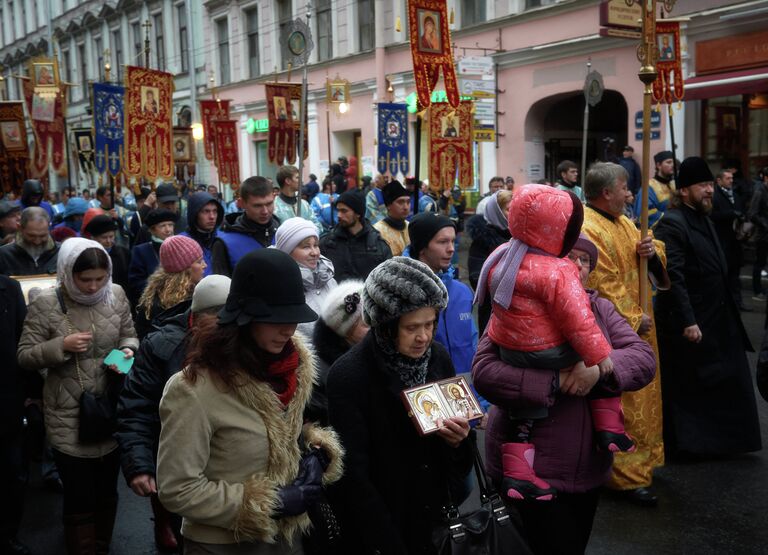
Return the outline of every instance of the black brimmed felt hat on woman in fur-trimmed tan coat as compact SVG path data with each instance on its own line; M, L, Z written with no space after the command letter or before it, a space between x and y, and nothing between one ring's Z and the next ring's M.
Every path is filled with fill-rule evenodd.
M258 249L240 259L227 303L219 311L219 325L315 320L317 314L305 301L301 270L293 258L277 249Z

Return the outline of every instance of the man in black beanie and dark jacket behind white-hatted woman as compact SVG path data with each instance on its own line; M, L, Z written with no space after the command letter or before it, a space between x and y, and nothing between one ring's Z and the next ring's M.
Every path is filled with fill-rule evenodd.
M386 241L365 219L365 197L346 191L336 201L339 223L320 239L320 252L333 262L336 281L365 280L392 257Z

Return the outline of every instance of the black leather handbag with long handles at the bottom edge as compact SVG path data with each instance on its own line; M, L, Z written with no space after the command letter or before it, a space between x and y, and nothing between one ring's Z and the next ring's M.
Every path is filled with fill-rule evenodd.
M509 515L504 501L488 485L474 435L475 475L481 507L462 515L454 503L444 508L443 522L433 529L439 555L530 555L532 552Z

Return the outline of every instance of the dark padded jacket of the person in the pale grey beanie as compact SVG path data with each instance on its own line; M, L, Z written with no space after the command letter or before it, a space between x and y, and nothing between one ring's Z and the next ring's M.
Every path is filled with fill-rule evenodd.
M117 405L120 464L128 483L134 476L155 476L160 439L158 407L165 383L181 370L186 354L189 311L158 320L144 338L125 379Z

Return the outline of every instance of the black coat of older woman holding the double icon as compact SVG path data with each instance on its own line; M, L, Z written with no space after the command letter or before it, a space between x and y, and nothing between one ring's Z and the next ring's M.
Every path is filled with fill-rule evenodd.
M427 382L455 375L445 348L432 344ZM405 389L386 369L373 332L328 374L331 426L345 449L344 476L329 494L339 512L345 553L434 553L431 532L448 499L466 493L472 449L434 434L421 437L400 399Z

